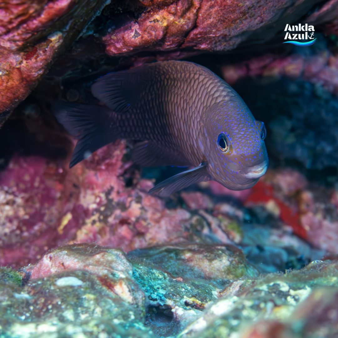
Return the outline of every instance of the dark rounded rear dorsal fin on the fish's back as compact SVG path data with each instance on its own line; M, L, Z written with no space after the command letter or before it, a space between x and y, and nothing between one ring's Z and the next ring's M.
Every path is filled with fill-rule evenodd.
M144 67L147 65L100 77L92 86L92 94L114 112L128 111L130 106L139 102L147 83Z

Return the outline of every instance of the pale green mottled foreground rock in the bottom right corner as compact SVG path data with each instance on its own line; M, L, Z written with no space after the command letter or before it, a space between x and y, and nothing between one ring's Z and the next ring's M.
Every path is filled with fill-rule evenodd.
M300 271L263 276L244 289L236 285L180 337L334 337L336 274L337 261L315 261Z

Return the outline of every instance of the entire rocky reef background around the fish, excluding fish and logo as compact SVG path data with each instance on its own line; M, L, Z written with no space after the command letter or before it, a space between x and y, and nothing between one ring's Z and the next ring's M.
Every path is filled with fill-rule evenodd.
M338 0L5 1L0 338L338 337L337 18ZM313 46L281 43L298 22ZM52 101L182 58L264 121L255 187L149 195L180 169L136 166L124 140L68 168Z

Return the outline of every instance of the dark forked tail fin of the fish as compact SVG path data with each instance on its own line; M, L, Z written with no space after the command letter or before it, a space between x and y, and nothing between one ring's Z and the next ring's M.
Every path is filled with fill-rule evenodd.
M66 131L78 140L70 168L119 138L115 114L107 107L57 101L52 105L52 112Z

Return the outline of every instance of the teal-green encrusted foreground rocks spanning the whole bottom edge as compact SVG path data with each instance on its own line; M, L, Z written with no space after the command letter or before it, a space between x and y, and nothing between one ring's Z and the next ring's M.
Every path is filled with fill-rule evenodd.
M258 276L224 245L127 255L67 245L19 271L0 268L0 330L10 337L331 337L337 268L316 261Z

